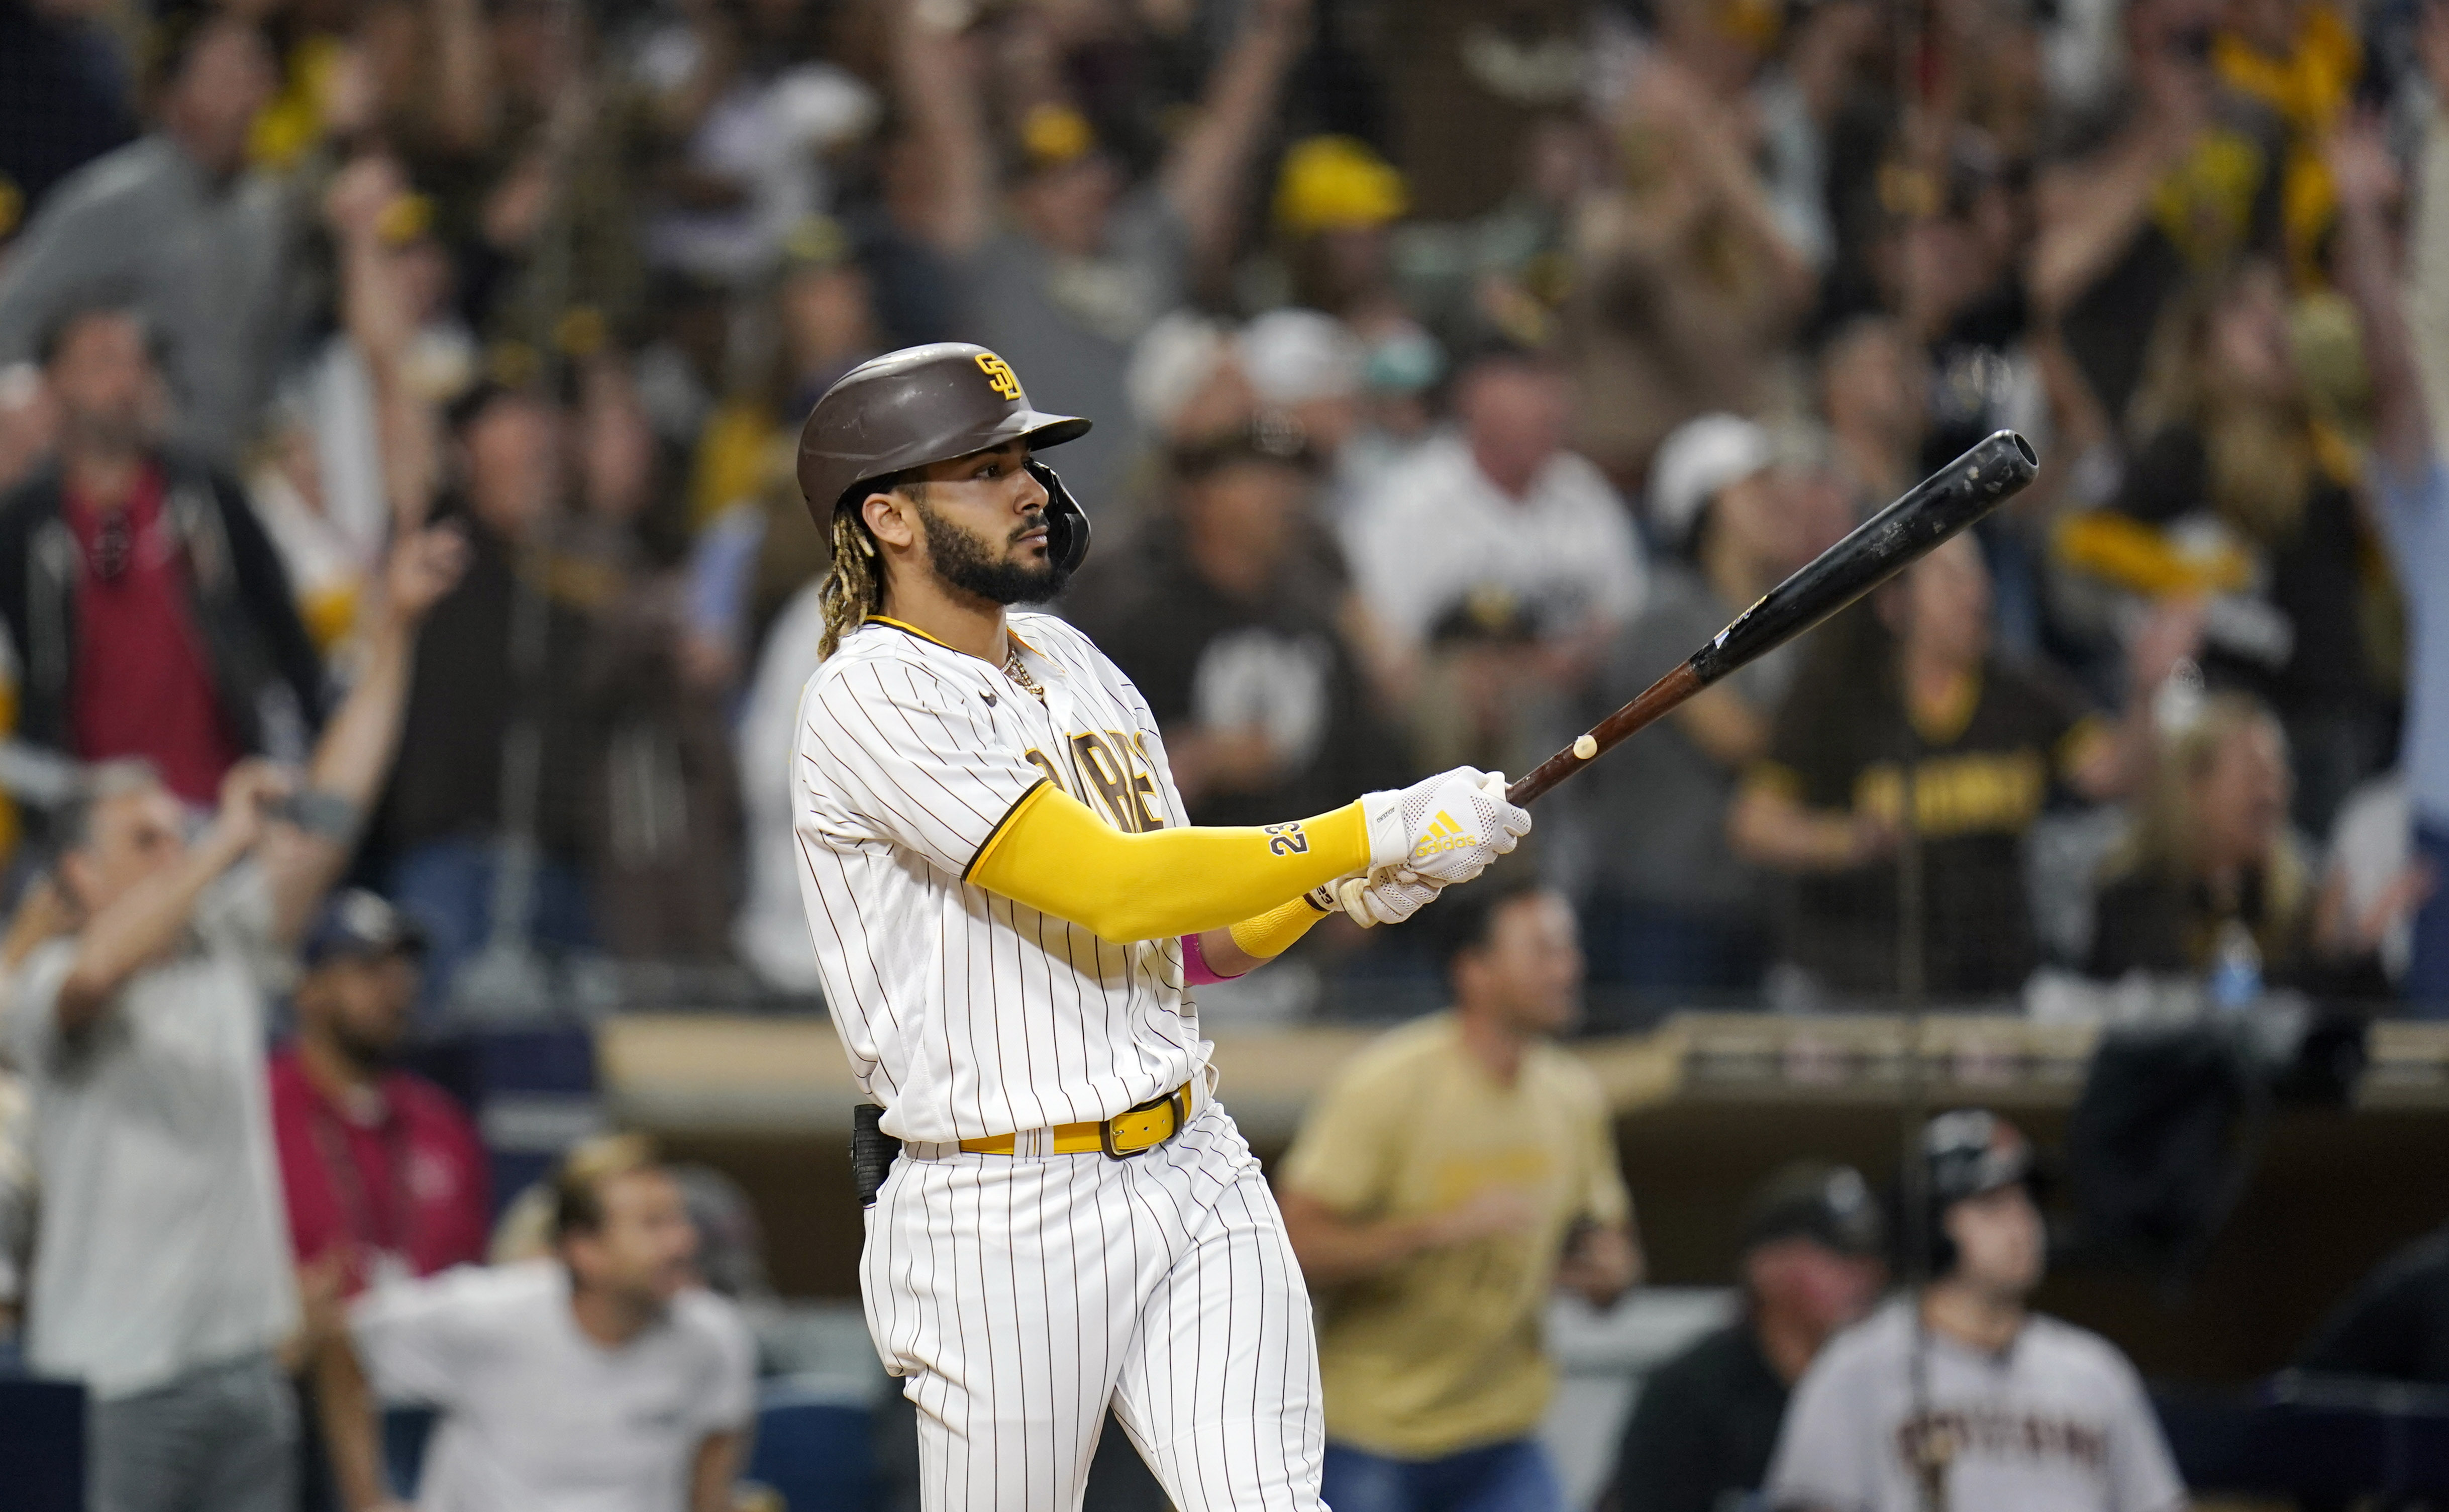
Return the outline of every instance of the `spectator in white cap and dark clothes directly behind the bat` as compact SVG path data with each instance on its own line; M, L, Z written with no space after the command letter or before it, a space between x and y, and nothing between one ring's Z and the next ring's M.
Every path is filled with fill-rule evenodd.
M1641 613L1607 652L1585 723L1678 667L1847 529L1844 497L1817 458L1736 414L1705 414L1668 436L1648 502L1665 551ZM1793 647L1761 657L1582 777L1602 833L1641 836L1594 858L1594 978L1646 990L1758 985L1768 899L1761 872L1727 848L1727 806L1744 767L1768 752L1793 667Z

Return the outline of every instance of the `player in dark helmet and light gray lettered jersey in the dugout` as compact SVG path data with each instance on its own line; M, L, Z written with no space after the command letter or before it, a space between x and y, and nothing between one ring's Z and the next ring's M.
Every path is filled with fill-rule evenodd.
M1930 1193L1918 1225L1930 1282L1834 1338L1802 1375L1768 1468L1768 1507L2182 1507L2185 1483L2136 1367L2106 1338L2028 1306L2047 1228L2023 1132L1959 1108L1930 1120L1910 1159Z

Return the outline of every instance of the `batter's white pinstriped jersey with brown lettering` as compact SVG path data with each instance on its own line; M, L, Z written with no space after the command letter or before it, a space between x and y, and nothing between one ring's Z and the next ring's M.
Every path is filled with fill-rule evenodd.
M962 880L1041 782L1117 828L1185 823L1131 679L1053 615L1009 625L1043 703L891 620L801 691L801 899L825 1005L901 1140L1112 1117L1207 1064L1180 941L1117 946Z

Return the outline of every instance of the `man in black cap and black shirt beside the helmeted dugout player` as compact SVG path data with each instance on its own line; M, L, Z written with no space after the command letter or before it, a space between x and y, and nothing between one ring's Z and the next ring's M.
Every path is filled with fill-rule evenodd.
M1785 1397L1888 1274L1878 1201L1854 1166L1798 1162L1761 1184L1736 1262L1744 1311L1641 1382L1614 1512L1719 1512L1768 1478Z

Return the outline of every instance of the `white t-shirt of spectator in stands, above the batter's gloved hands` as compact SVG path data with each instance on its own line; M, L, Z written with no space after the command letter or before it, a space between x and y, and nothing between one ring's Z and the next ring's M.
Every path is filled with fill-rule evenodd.
M1648 583L1641 539L1599 468L1560 451L1506 497L1462 436L1425 441L1359 502L1345 549L1369 608L1418 644L1482 593L1504 593L1540 635L1621 622Z

